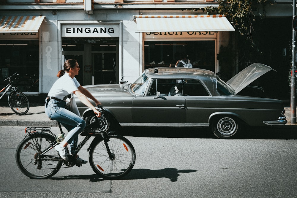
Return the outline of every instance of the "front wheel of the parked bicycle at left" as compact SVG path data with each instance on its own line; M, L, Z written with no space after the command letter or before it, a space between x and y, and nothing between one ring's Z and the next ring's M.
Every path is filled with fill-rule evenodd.
M22 92L12 91L8 95L8 104L9 107L12 109L13 112L19 115L24 115L29 111L30 104L27 96Z

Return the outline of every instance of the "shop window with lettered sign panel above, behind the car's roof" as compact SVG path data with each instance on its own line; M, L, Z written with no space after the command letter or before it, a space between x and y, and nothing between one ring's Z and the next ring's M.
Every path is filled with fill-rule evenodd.
M187 58L195 68L215 72L216 39L214 32L159 32L144 33L144 69L174 67L178 60Z

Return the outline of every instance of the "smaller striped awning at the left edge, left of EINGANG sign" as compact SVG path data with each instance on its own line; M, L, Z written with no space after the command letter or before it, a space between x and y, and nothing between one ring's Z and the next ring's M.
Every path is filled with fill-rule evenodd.
M38 32L45 16L0 17L0 33Z

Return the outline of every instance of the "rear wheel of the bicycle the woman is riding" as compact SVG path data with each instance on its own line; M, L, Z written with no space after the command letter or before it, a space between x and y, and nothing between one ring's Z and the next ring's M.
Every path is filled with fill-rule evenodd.
M20 171L33 179L45 179L55 175L61 168L62 161L37 161L38 154L48 148L50 143L54 141L55 137L40 133L32 134L21 141L15 153L15 159ZM55 149L51 149L46 154L56 159L60 158Z

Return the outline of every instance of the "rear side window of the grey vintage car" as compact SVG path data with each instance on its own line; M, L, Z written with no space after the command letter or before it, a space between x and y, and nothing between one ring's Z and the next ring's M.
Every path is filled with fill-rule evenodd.
M209 96L208 91L199 80L184 80L184 96Z

